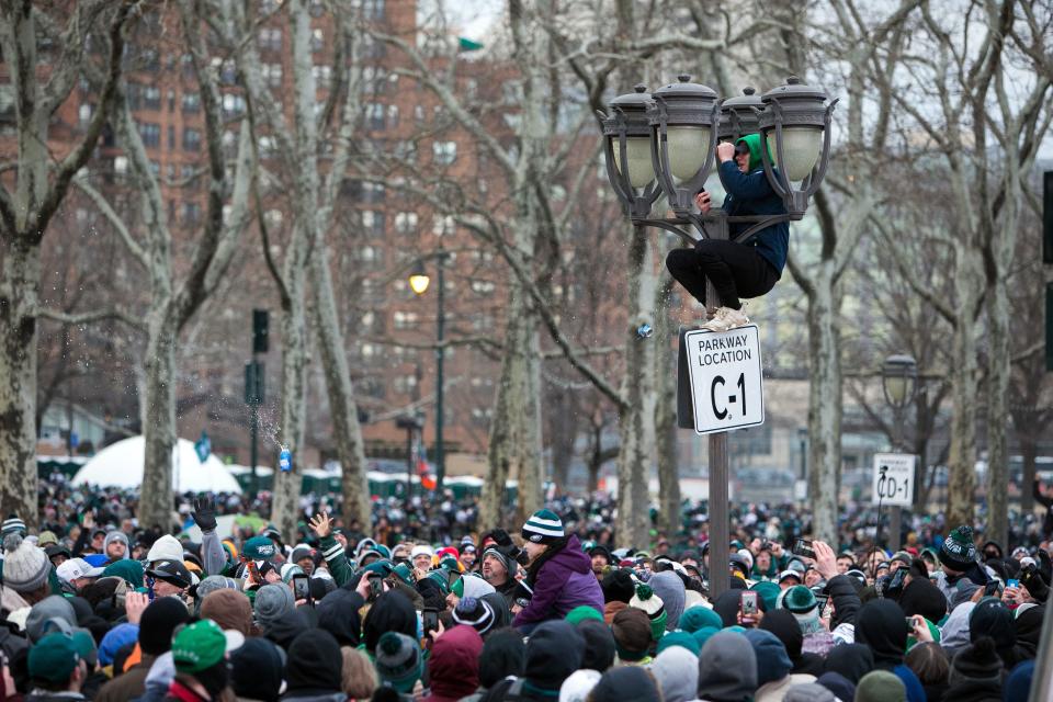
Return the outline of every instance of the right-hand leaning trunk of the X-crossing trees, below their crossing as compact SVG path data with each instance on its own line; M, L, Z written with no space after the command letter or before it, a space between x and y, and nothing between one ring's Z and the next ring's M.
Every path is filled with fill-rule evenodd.
M344 523L350 523L352 519L356 519L360 524L369 524L370 485L365 475L365 445L362 441L362 426L359 423L359 408L354 401L348 355L344 352L343 333L340 331L337 299L332 291L328 246L315 252L312 272L318 347L326 374L337 457L340 461L343 520Z

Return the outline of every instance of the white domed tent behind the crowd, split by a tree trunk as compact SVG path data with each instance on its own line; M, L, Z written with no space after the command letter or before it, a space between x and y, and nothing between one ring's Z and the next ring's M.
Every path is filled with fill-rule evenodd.
M137 488L143 484L146 442L132 437L111 444L92 456L73 476L73 485ZM180 439L172 448L172 488L178 492L241 492L241 486L215 455L204 463L194 443Z

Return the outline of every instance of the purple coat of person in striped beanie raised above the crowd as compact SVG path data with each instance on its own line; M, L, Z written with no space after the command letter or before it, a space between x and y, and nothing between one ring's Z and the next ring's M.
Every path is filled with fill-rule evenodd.
M563 619L576 607L587 605L603 613L603 590L592 575L592 559L581 551L577 535L537 571L530 604L516 615L512 626Z

